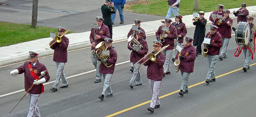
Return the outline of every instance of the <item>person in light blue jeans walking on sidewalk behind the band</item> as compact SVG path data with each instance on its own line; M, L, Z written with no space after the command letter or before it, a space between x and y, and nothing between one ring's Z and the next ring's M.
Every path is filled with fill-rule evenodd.
M178 10L180 9L180 0L167 0L169 2L169 10L166 14L165 18L171 18L171 15L174 14L174 16L177 15ZM162 23L165 23L165 21L161 21Z

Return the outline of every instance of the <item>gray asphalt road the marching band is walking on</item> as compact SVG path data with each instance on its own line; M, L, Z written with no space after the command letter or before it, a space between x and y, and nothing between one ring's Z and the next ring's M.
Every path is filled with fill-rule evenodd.
M236 22L236 21L234 21ZM254 22L256 23L256 22ZM236 26L234 23L233 26ZM143 28L143 27L142 27ZM209 26L207 26L207 32ZM188 29L188 36L193 37L194 28ZM152 41L155 35L146 38L149 50L152 50ZM117 63L129 60L130 51L127 49L127 41L114 43L118 53ZM163 79L160 89L161 107L154 113L148 112L151 92L146 78L146 67L140 69L143 85L129 87L132 73L129 71L130 63L117 65L111 80L113 96L100 101L103 82L93 83L95 72L85 73L80 76L73 75L91 71L94 66L90 60L90 49L80 49L68 53L68 63L65 64L64 72L69 77L69 87L52 92L49 89L53 83L45 85L45 92L39 99L39 110L42 117L82 116L103 117L122 111L117 117L254 117L256 93L255 93L255 70L254 66L245 73L241 70L244 66L243 54L234 57L238 45L232 36L228 45L228 57L223 61L218 60L215 67L216 82L206 85L204 83L208 72L208 62L202 55L195 61L194 73L189 78L189 93L180 97L177 91L181 85L181 74L175 72L174 64L171 63L171 74ZM56 68L52 61L53 57L39 59L46 65L51 76L50 81L55 80ZM10 76L10 71L23 63L0 68L0 96L6 93L24 88L23 75ZM255 65L251 60L251 65ZM234 71L238 69L237 71ZM231 72L233 71L233 72ZM61 85L61 84L60 84ZM20 104L9 113L17 104L25 91L11 94L0 98L0 117L21 117L28 113L27 96ZM168 96L165 96L167 94ZM147 102L148 101L148 102ZM138 107L134 107L139 105ZM130 108L132 107L132 108Z

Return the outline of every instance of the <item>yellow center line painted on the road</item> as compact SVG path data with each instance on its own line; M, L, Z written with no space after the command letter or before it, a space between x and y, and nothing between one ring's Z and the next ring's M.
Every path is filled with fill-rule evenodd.
M251 64L250 66L254 66L254 65L256 65L256 63L253 63L253 64ZM239 70L242 70L242 68L235 69L235 70L230 71L230 72L228 72L228 73L221 74L221 75L219 75L219 76L217 76L217 77L215 77L215 78L220 78L220 77L226 76L226 75L228 75L228 74L237 72L237 71L239 71ZM202 82L199 82L199 83L190 85L190 86L188 86L188 88L192 88L192 87L195 87L195 86L200 85L200 84L203 84L203 83L205 83L205 81L202 81ZM173 91L173 92L171 92L171 93L162 95L162 96L159 97L159 99L165 98L165 97L170 96L170 95L175 94L175 93L178 93L179 91L180 91L180 89L179 89L179 90L176 90L176 91ZM113 116L116 116L116 115L118 115L118 114L121 114L121 113L123 113L123 112L132 110L132 109L137 108L137 107L139 107L139 106L143 106L143 105L148 104L148 103L150 103L150 102L151 102L151 100L145 101L145 102L143 102L143 103L140 103L140 104L138 104L138 105L135 105L135 106L126 108L126 109L124 109L124 110L118 111L118 112L113 113L113 114L111 114L111 115L108 115L108 116L106 116L106 117L113 117Z

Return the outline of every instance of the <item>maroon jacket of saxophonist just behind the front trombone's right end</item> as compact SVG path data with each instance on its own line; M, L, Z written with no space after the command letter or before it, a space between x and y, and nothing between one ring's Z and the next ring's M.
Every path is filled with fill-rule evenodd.
M156 31L156 38L160 38L162 33L164 32L162 30L162 27L164 26L160 26L158 28L158 30ZM168 35L167 38L164 38L164 42L162 43L161 47L164 47L166 45L170 45L166 48L166 50L173 50L174 49L174 39L177 39L177 30L174 26L169 26L169 32L165 32L165 34Z

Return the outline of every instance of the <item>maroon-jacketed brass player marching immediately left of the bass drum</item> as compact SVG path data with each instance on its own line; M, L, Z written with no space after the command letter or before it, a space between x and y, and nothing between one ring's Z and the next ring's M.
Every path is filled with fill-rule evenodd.
M231 27L233 24L233 20L229 17L230 11L227 9L223 10L225 20L222 20L222 23L220 23L219 28L220 32L219 34L222 36L222 51L220 52L219 59L223 60L223 58L226 58L226 50L228 48L229 39L231 38Z

